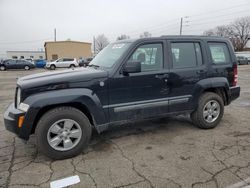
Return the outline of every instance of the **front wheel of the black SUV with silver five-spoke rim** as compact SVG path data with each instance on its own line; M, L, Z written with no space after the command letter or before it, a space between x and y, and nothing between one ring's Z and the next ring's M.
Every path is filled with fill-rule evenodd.
M69 120L73 121L72 123L75 122L70 132L80 130L80 132L78 131L78 136L80 133L81 136L78 138L70 136L68 136L68 138L64 138L65 135L64 131L62 131L63 129L53 128L57 127L56 125L60 125L59 127L63 128L65 126L65 122ZM62 124L60 121L65 122ZM57 133L55 133L55 130ZM57 107L46 112L39 120L35 134L37 138L38 150L40 150L44 155L53 159L66 159L80 154L88 146L92 134L92 128L88 118L80 110L65 106ZM71 145L71 147L66 147L67 144L65 143L69 143L66 142L69 138L71 139L71 143L73 145ZM61 139L61 141L59 140L57 145L55 144L55 146L52 146L55 143L52 142L53 139Z

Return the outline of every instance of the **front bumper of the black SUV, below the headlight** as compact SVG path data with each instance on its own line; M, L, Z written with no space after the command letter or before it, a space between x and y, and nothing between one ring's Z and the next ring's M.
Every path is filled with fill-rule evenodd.
M18 137L26 139L25 135L22 134L22 128L18 128L18 118L25 115L23 111L15 108L14 103L12 103L4 113L4 124L5 128L18 135Z

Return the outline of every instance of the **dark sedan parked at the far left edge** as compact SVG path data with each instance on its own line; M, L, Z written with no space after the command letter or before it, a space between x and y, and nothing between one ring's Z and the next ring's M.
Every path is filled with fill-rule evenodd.
M7 69L25 69L30 70L35 68L35 65L29 61L22 59L7 59L0 63L0 70Z

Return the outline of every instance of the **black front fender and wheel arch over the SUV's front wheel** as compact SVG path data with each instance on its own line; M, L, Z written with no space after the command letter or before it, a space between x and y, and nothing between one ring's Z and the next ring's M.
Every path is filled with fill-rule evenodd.
M83 112L94 128L107 123L106 114L98 96L90 89L64 89L34 94L23 101L30 107L25 115L27 126L22 133L29 138L34 133L39 119L49 110L70 106Z

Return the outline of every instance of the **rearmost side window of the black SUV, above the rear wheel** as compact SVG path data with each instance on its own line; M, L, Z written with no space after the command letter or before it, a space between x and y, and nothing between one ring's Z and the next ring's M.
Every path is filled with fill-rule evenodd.
M213 64L225 64L230 62L230 53L225 43L208 43Z

